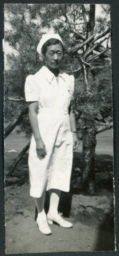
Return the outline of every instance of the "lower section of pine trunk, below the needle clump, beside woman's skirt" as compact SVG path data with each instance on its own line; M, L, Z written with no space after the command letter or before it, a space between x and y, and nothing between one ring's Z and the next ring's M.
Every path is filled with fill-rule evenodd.
M94 194L94 152L96 147L96 128L94 118L87 115L83 133L83 174L82 190Z

